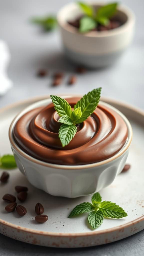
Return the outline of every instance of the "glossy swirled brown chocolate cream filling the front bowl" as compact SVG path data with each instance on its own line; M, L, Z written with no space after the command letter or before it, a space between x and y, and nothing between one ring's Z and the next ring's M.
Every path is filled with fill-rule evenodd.
M73 108L79 98L67 99ZM96 163L114 156L125 145L128 130L121 116L99 104L94 113L77 126L73 140L61 146L58 130L61 123L53 103L33 109L16 123L16 144L28 155L54 164L81 165Z

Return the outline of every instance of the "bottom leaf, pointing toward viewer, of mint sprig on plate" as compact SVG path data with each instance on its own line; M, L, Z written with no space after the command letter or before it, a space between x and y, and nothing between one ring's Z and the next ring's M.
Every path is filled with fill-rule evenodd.
M104 220L104 216L101 211L92 211L88 215L88 222L94 229L98 228Z

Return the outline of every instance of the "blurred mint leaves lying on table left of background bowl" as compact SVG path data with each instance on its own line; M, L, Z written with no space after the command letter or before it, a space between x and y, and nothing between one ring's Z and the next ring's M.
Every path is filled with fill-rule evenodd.
M57 20L54 16L35 17L32 19L32 22L41 26L45 31L53 30L57 25Z

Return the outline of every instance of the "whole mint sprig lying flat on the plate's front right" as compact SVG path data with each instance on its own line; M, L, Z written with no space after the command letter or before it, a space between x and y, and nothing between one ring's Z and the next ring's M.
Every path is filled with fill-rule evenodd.
M84 202L77 205L71 211L68 218L85 212L90 212L87 218L88 222L93 229L96 229L102 224L104 217L120 219L128 216L125 210L119 205L116 205L110 201L101 202L101 200L102 198L100 194L98 192L95 193L91 198L92 204Z

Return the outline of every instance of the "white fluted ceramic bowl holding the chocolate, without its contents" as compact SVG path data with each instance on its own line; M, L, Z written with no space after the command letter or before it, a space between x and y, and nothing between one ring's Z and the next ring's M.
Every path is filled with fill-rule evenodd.
M63 98L69 97L63 96ZM127 118L111 105L100 102L115 110L125 121L128 127L128 140L125 146L116 155L98 163L75 166L46 163L29 156L18 147L13 138L13 129L17 120L26 112L46 106L50 102L51 99L46 99L28 106L16 116L9 128L9 140L19 170L26 175L33 186L54 196L69 198L86 196L110 185L123 169L128 156L132 128Z

